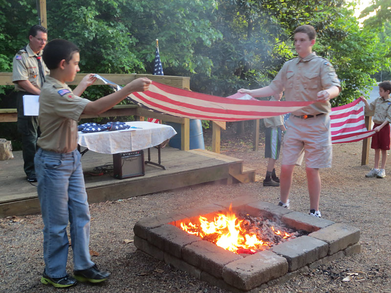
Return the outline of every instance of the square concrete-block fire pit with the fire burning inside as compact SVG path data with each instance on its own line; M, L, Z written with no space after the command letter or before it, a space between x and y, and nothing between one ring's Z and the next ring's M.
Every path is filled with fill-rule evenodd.
M238 293L258 293L361 249L354 227L252 198L146 218L133 230L139 250Z

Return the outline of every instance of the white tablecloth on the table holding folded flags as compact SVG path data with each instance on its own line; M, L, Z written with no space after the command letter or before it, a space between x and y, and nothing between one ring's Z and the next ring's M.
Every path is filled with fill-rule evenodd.
M176 134L174 128L168 125L143 121L126 124L140 128L93 133L79 132L78 144L95 152L116 154L157 146Z

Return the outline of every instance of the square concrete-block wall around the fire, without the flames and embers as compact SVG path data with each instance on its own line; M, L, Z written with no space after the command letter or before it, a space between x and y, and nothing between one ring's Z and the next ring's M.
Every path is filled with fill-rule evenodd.
M245 211L254 217L265 216L309 234L269 251L239 255L178 228L181 221L194 223L199 215L213 219L216 212L228 210L231 203L236 214ZM133 230L134 245L139 250L234 293L258 293L328 261L361 251L360 230L354 227L247 197L145 218Z

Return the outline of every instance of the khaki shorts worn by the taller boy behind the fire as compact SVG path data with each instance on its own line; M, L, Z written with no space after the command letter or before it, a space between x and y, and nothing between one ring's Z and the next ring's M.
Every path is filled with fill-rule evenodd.
M332 161L330 117L328 114L302 119L290 115L283 139L282 165L329 168Z

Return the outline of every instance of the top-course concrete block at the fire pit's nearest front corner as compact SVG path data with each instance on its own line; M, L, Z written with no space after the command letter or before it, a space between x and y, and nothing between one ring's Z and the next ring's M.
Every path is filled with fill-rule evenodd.
M260 251L224 266L225 282L248 291L288 272L286 259L271 251Z

